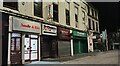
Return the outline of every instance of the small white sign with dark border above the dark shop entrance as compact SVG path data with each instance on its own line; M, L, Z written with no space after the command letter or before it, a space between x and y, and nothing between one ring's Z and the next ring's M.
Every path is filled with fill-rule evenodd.
M42 34L57 36L57 27L48 24L42 24Z

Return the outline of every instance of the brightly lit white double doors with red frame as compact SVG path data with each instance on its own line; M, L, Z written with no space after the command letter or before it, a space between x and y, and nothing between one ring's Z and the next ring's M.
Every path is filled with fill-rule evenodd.
M25 35L24 39L25 62L38 60L38 36Z

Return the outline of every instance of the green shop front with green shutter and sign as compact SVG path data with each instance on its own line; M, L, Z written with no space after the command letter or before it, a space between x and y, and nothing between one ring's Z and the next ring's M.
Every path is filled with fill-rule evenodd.
M73 30L73 53L87 53L88 52L88 44L87 44L87 33Z

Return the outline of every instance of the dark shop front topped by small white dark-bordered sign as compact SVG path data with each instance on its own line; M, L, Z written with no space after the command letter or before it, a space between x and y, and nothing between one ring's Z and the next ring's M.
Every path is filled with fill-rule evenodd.
M41 58L54 58L57 56L57 27L42 24Z

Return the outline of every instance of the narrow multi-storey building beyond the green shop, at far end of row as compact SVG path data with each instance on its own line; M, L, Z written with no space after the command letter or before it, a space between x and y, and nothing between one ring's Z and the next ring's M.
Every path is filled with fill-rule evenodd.
M99 48L100 30L99 30L99 19L98 10L95 9L90 3L87 6L88 14L88 49L89 52L93 52Z

